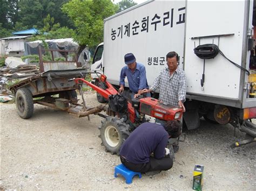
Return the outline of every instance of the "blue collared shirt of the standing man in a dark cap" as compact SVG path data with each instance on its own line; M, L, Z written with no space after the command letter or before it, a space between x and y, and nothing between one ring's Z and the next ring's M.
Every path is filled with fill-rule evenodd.
M126 76L129 83L129 88L133 93L137 94L139 89L149 89L146 79L146 68L142 63L136 62L136 69L134 72L132 72L127 65L122 68L119 83L123 86L125 86L124 79Z

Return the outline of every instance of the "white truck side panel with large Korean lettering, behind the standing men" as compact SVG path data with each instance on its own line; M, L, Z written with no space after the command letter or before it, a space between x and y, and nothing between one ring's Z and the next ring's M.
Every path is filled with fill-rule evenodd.
M145 65L149 85L166 66L168 51L177 51L182 63L185 20L178 23L179 15L183 19L185 2L165 1L146 3L106 19L104 73L108 80L119 84L120 70L125 66L124 55L129 52Z

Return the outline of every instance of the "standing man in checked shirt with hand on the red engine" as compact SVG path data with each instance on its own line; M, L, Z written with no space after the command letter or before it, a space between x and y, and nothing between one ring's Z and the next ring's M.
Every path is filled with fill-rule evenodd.
M186 76L183 69L178 66L178 54L169 52L166 61L167 67L161 70L150 89L143 89L143 93L159 89L160 101L183 108L185 112L183 103L186 100Z

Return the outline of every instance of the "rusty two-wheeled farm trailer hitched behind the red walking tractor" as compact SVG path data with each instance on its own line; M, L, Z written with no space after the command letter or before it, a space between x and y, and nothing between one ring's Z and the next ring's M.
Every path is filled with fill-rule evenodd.
M52 55L51 61L43 61L43 51L39 47L40 73L10 86L10 90L15 95L17 113L21 118L27 119L33 115L33 104L45 105L88 118L90 114L105 109L104 105L89 108L85 102L78 104L76 90L83 95L82 84L70 79L84 76L86 70L79 65L76 56L74 60L68 59L74 51L48 49ZM64 55L64 60L55 60L53 52Z

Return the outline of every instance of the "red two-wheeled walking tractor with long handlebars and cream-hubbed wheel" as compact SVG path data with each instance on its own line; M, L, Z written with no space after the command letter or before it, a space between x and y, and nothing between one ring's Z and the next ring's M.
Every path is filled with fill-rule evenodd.
M100 138L106 151L111 154L119 154L125 139L138 125L144 122L164 124L166 121L180 120L183 114L183 109L160 103L152 97L127 99L106 81L105 75L98 77L97 86L83 78L71 80L77 84L87 84L109 101L109 107L98 107L105 110L107 115L98 115L105 118L99 127Z

